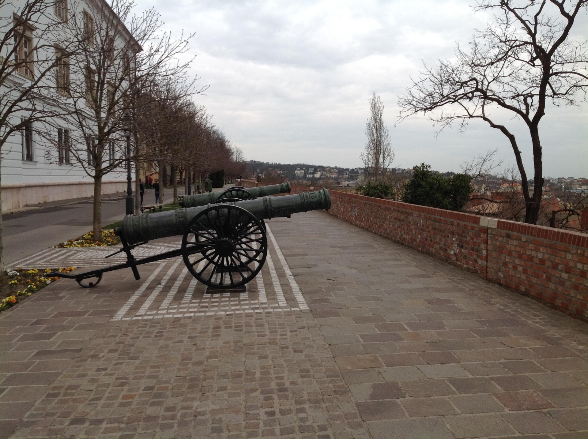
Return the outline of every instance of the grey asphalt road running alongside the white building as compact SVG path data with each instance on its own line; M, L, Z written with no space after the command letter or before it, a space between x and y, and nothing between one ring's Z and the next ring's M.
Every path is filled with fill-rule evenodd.
M153 194L148 192L145 196ZM39 206L39 205L37 205ZM125 194L102 199L102 224L125 215ZM92 199L68 205L48 205L2 215L4 264L10 266L26 256L74 239L92 229Z

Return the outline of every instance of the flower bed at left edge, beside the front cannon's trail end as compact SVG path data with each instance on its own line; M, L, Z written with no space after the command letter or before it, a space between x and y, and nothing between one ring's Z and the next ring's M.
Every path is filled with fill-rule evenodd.
M55 269L24 270L18 268L6 272L8 296L0 300L0 313L14 306L22 299L25 299L25 297L29 297L31 294L36 293L36 291L48 286L51 282L58 280L59 277L46 277L48 273L55 271ZM58 271L70 273L74 271L74 267L59 268Z

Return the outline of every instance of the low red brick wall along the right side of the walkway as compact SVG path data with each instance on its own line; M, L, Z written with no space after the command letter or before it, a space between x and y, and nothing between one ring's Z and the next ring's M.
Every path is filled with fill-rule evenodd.
M588 234L329 193L330 215L588 321Z

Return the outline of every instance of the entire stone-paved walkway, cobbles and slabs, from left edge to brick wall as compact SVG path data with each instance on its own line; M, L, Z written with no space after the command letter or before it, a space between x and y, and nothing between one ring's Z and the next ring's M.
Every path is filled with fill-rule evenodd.
M247 290L170 260L0 314L0 437L588 437L586 324L326 213L268 225Z

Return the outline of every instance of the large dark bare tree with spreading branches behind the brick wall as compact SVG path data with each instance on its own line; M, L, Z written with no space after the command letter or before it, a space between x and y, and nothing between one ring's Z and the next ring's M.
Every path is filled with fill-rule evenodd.
M573 41L570 33L587 5L587 0L479 1L474 9L495 12L495 21L476 32L469 49L457 46L455 62L440 61L434 69L425 65L421 78L399 99L400 120L427 113L440 132L453 123L463 130L470 119L480 119L503 133L522 179L527 223L537 223L541 209L539 126L547 103L577 105L585 99L586 43ZM507 122L499 122L505 115ZM513 116L523 122L532 145L532 192L513 134Z

